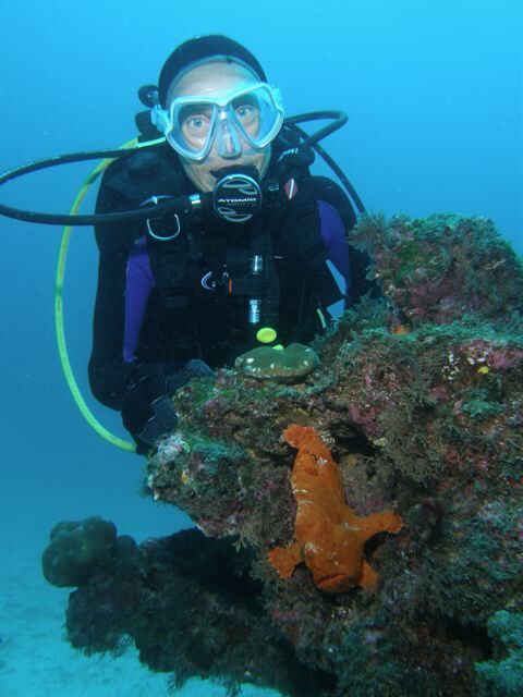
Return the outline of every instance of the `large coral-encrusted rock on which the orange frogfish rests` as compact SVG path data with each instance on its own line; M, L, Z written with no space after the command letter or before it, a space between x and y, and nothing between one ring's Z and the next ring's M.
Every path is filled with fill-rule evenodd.
M382 297L364 298L315 342L320 365L312 375L279 384L220 370L178 391L179 428L148 462L146 488L191 515L207 551L147 543L138 553L157 546L158 559L118 596L125 612L113 610L117 594L108 590L118 573L106 566L104 582L94 574L70 601L75 646L115 649L130 636L144 662L179 681L229 675L289 695L307 694L300 671L318 697L488 689L475 664L502 660L489 621L523 604L523 267L483 218L365 217L351 241L370 256ZM398 534L365 547L375 585L326 594L303 564L290 578L270 565L268 550L294 539L294 452L282 437L291 424L321 437L357 516L401 516ZM214 545L220 558L209 568ZM195 580L174 611L168 598L172 565L184 564L179 554ZM233 574L233 592L209 599L211 568ZM159 604L148 614L132 610L151 598ZM212 602L222 613L219 636ZM104 617L75 612L90 608L94 616L104 603ZM254 637L277 668L260 662L242 677L230 631L240 632L236 620L250 610L245 656ZM202 612L210 612L208 625ZM161 638L141 648L137 626ZM177 652L180 627L196 632L206 664L188 660L188 649ZM514 684L518 693L496 694L519 694Z

